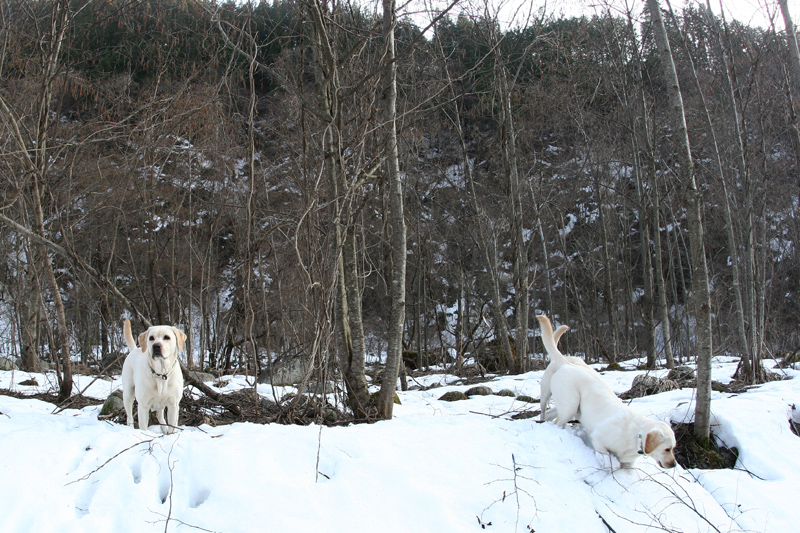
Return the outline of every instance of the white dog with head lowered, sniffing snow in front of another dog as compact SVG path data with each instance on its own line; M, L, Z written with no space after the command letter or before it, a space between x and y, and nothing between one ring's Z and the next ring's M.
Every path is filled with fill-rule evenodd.
M537 317L551 360L564 356L553 339L553 328L545 317ZM544 318L544 320L542 320ZM547 326L544 327L544 321ZM560 361L550 379L556 404L556 424L564 427L577 417L600 453L614 455L623 468L630 468L640 455L649 455L661 468L675 466L675 433L665 422L646 418L622 403L600 374L585 364Z

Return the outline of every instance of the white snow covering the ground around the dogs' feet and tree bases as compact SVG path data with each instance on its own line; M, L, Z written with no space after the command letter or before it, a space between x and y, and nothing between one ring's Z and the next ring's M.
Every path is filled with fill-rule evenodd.
M717 360L714 379L729 380L735 366ZM618 470L576 427L510 418L535 404L439 401L469 388L446 375L425 378L443 387L399 393L392 421L168 436L98 421L99 406L53 414L45 402L0 395L0 531L796 531L800 438L788 418L791 404L800 407L800 372L787 373L795 379L714 393L715 432L740 451L735 470L715 471L663 471L649 458ZM541 375L486 384L538 398ZM635 375L605 379L623 392ZM0 389L35 392L18 385L31 376L46 383L0 372ZM90 382L78 380L98 398L119 387ZM234 376L224 391L245 385ZM690 389L631 405L674 422L694 411Z

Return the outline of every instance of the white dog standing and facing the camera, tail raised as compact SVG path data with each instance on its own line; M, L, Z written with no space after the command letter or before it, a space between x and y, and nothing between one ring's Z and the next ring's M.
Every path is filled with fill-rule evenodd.
M122 365L122 401L128 425L133 427L133 400L138 404L139 429L147 429L150 411L156 412L161 430L172 433L178 426L178 405L183 396L183 373L178 349L183 350L186 334L172 326L152 326L139 335L139 346L131 333L131 322L123 328L128 357ZM164 409L169 409L164 419Z

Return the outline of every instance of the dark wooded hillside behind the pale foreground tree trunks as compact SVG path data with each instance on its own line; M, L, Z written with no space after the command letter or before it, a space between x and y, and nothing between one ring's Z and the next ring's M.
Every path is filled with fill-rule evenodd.
M322 86L312 4L336 48L341 196L323 177L328 124L310 103ZM691 362L686 209L644 6L513 28L489 5L457 9L395 28L406 365L460 371L472 357L502 370L498 332L527 360L517 317L532 354L538 313L570 325L562 349L592 361ZM32 370L69 350L102 367L130 315L135 331L184 329L192 368L255 375L300 358L333 374L332 205L346 198L377 360L391 271L378 11L3 1L0 355ZM663 13L702 198L714 353L794 351L800 134L783 22Z

